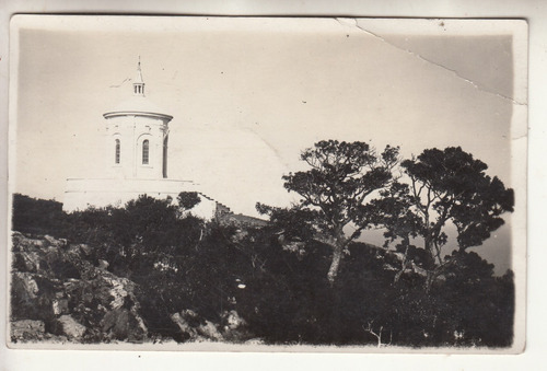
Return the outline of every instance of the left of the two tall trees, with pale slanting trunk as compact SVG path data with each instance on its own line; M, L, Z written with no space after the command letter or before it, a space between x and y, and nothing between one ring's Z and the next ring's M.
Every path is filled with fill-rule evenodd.
M313 237L333 248L327 274L331 283L338 275L345 248L371 223L372 212L365 201L392 181L398 150L387 146L377 153L365 142L323 140L301 154L310 170L283 176L284 187L302 197L290 212L305 215L307 224L312 224L307 230L313 230ZM344 229L350 223L354 231L346 235Z

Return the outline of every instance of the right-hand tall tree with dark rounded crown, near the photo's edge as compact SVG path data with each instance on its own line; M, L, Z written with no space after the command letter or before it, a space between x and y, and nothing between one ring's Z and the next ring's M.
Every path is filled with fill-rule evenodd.
M465 250L482 244L504 223L501 215L513 211L513 189L487 175L487 164L459 147L427 149L418 158L403 161L401 167L410 179L406 199L419 220L417 233L439 264L449 221L456 227L458 248Z

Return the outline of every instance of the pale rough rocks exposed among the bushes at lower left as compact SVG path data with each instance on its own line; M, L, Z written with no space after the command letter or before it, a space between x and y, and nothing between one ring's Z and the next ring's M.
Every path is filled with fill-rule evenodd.
M139 287L93 262L92 247L48 235L13 232L12 343L152 341L140 314ZM226 312L223 324L182 309L171 320L187 340L225 340L243 321Z

